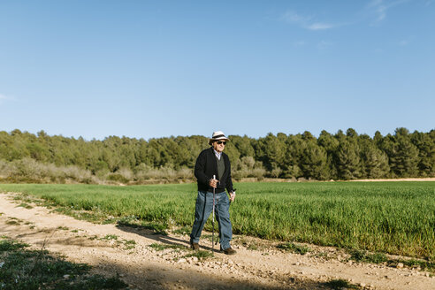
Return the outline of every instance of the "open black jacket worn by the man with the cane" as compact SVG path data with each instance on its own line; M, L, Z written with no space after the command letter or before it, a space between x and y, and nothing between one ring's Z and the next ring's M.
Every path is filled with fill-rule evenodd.
M231 179L231 164L228 156L222 152L221 158L224 158L225 162L225 172L222 175L222 179L217 183L216 192L221 193L225 191L225 188L228 192L233 191L233 180ZM213 175L217 175L217 161L215 152L213 148L203 150L198 158L196 159L195 164L195 177L198 179L198 191L208 191L213 192L213 187L210 187L209 182L210 179L213 178Z

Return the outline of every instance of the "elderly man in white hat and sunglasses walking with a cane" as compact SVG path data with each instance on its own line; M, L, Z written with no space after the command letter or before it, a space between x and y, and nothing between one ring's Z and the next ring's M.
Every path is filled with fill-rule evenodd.
M195 164L195 177L198 180L198 196L195 205L195 221L190 234L190 246L199 248L202 228L213 210L213 188L215 189L215 213L219 225L220 249L226 255L236 253L230 246L233 229L230 221L230 200L233 202L235 191L231 179L230 159L223 152L229 141L222 131L214 132L209 140L209 149L203 150ZM213 179L216 176L217 179ZM230 199L225 193L230 194Z

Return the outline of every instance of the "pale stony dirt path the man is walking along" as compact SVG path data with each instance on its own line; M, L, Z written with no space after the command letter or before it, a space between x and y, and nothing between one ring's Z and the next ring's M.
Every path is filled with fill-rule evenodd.
M94 271L110 276L118 273L132 289L325 289L324 282L332 279L368 289L435 289L435 277L428 272L346 262L335 248L309 246L318 255L301 256L257 239L256 245L263 247L248 249L249 239L242 238L247 247L234 242L236 256L217 253L202 262L183 257L189 250L149 247L153 243L188 246L187 235L161 236L131 227L95 225L42 207L18 207L12 197L0 194L1 235L34 248L42 248L45 242L46 249L69 261L88 263ZM131 240L134 248L128 248ZM210 247L209 240L202 240L203 244Z

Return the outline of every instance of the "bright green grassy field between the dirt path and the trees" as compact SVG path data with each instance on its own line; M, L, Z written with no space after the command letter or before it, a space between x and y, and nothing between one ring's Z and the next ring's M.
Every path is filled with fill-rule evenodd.
M435 258L435 182L263 182L235 187L233 233ZM195 184L0 184L0 191L165 226L192 225L196 198ZM211 229L210 223L206 228Z

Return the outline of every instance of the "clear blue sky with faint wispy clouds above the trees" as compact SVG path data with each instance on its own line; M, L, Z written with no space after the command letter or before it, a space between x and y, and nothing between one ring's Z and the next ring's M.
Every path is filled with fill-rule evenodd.
M435 1L3 1L0 131L435 128Z

